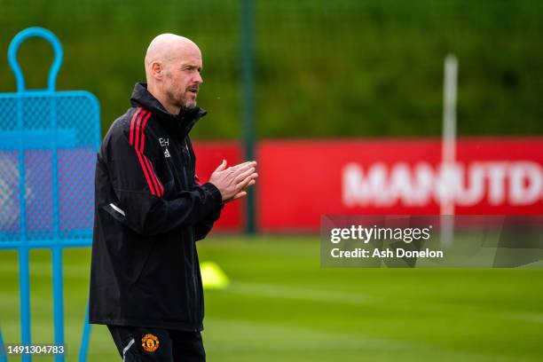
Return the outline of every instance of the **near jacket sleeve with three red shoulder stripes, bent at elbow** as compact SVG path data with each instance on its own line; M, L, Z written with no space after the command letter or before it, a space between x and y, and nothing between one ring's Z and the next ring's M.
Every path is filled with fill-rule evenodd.
M145 147L145 136L119 127L106 143L115 207L124 214L124 224L141 234L158 234L198 224L220 209L221 193L209 183L178 193L173 200L163 199L164 187L153 166L156 156Z

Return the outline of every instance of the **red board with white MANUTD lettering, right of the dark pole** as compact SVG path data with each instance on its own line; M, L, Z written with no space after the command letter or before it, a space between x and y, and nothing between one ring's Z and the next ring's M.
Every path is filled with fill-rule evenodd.
M258 227L317 231L319 216L543 214L543 138L463 138L441 164L438 138L264 141Z

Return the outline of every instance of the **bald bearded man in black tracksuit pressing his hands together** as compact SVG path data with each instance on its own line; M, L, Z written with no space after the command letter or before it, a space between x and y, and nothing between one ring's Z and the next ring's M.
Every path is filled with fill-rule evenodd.
M255 184L256 162L223 161L200 184L189 132L206 114L201 51L158 35L145 67L98 151L90 322L109 328L123 361L205 361L195 243Z

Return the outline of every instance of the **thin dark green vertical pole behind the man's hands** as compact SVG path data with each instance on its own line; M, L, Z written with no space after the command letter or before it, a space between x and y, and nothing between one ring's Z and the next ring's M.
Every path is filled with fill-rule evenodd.
M245 143L245 159L255 160L255 72L254 72L254 12L252 0L241 0L241 126ZM247 224L245 232L256 233L255 190L247 195Z

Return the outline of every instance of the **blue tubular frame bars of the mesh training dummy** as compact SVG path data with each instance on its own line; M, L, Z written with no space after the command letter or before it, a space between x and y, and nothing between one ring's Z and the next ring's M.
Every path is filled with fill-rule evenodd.
M17 52L20 44L30 37L41 37L51 44L54 51L54 60L49 70L47 88L45 90L27 90L25 78L17 60ZM19 272L20 272L20 326L22 344L31 344L32 335L30 327L30 275L29 275L29 250L31 248L50 248L52 258L52 287L53 287L53 319L54 319L54 342L58 345L64 345L64 301L63 301L63 278L62 278L62 256L64 248L74 247L90 247L91 239L61 239L59 232L59 172L57 152L59 146L66 147L66 137L63 137L62 131L57 131L57 102L62 96L82 97L87 98L92 105L93 113L96 113L94 122L97 122L96 134L94 135L93 147L98 150L100 142L99 130L99 104L98 99L86 91L65 91L57 92L56 82L59 74L60 65L62 64L63 51L59 38L44 28L27 28L15 35L8 49L9 64L12 67L13 73L17 81L16 93L0 94L0 98L15 98L17 99L17 131L15 135L19 135L19 142L13 149L18 151L19 156L19 195L20 195L20 240L8 240L0 242L0 249L15 248L19 252ZM25 138L27 130L25 130L23 122L23 98L28 98L29 93L32 96L48 98L51 101L50 108L50 133L39 134L37 139L37 148L43 147L43 138L48 136L48 149L51 149L51 173L52 173L52 217L53 217L53 239L36 240L28 238L27 234L27 205L26 205L26 188L25 188L25 150L32 147L32 137ZM32 131L28 131L32 134ZM34 134L39 133L35 132ZM66 135L66 131L64 133ZM13 136L13 135L11 135ZM1 137L0 137L1 138ZM69 138L69 137L68 137ZM25 143L23 144L23 139ZM30 141L28 140L30 139ZM1 141L1 139L0 139ZM5 146L4 146L5 147ZM88 305L83 324L82 343L80 348L79 360L86 361L87 350L89 347L89 338L91 334L91 326L89 325ZM3 353L4 352L4 353ZM2 333L0 331L0 362L6 360L4 351L4 343L2 341ZM30 361L31 356L23 356L22 361ZM65 356L55 356L55 361L64 361Z

